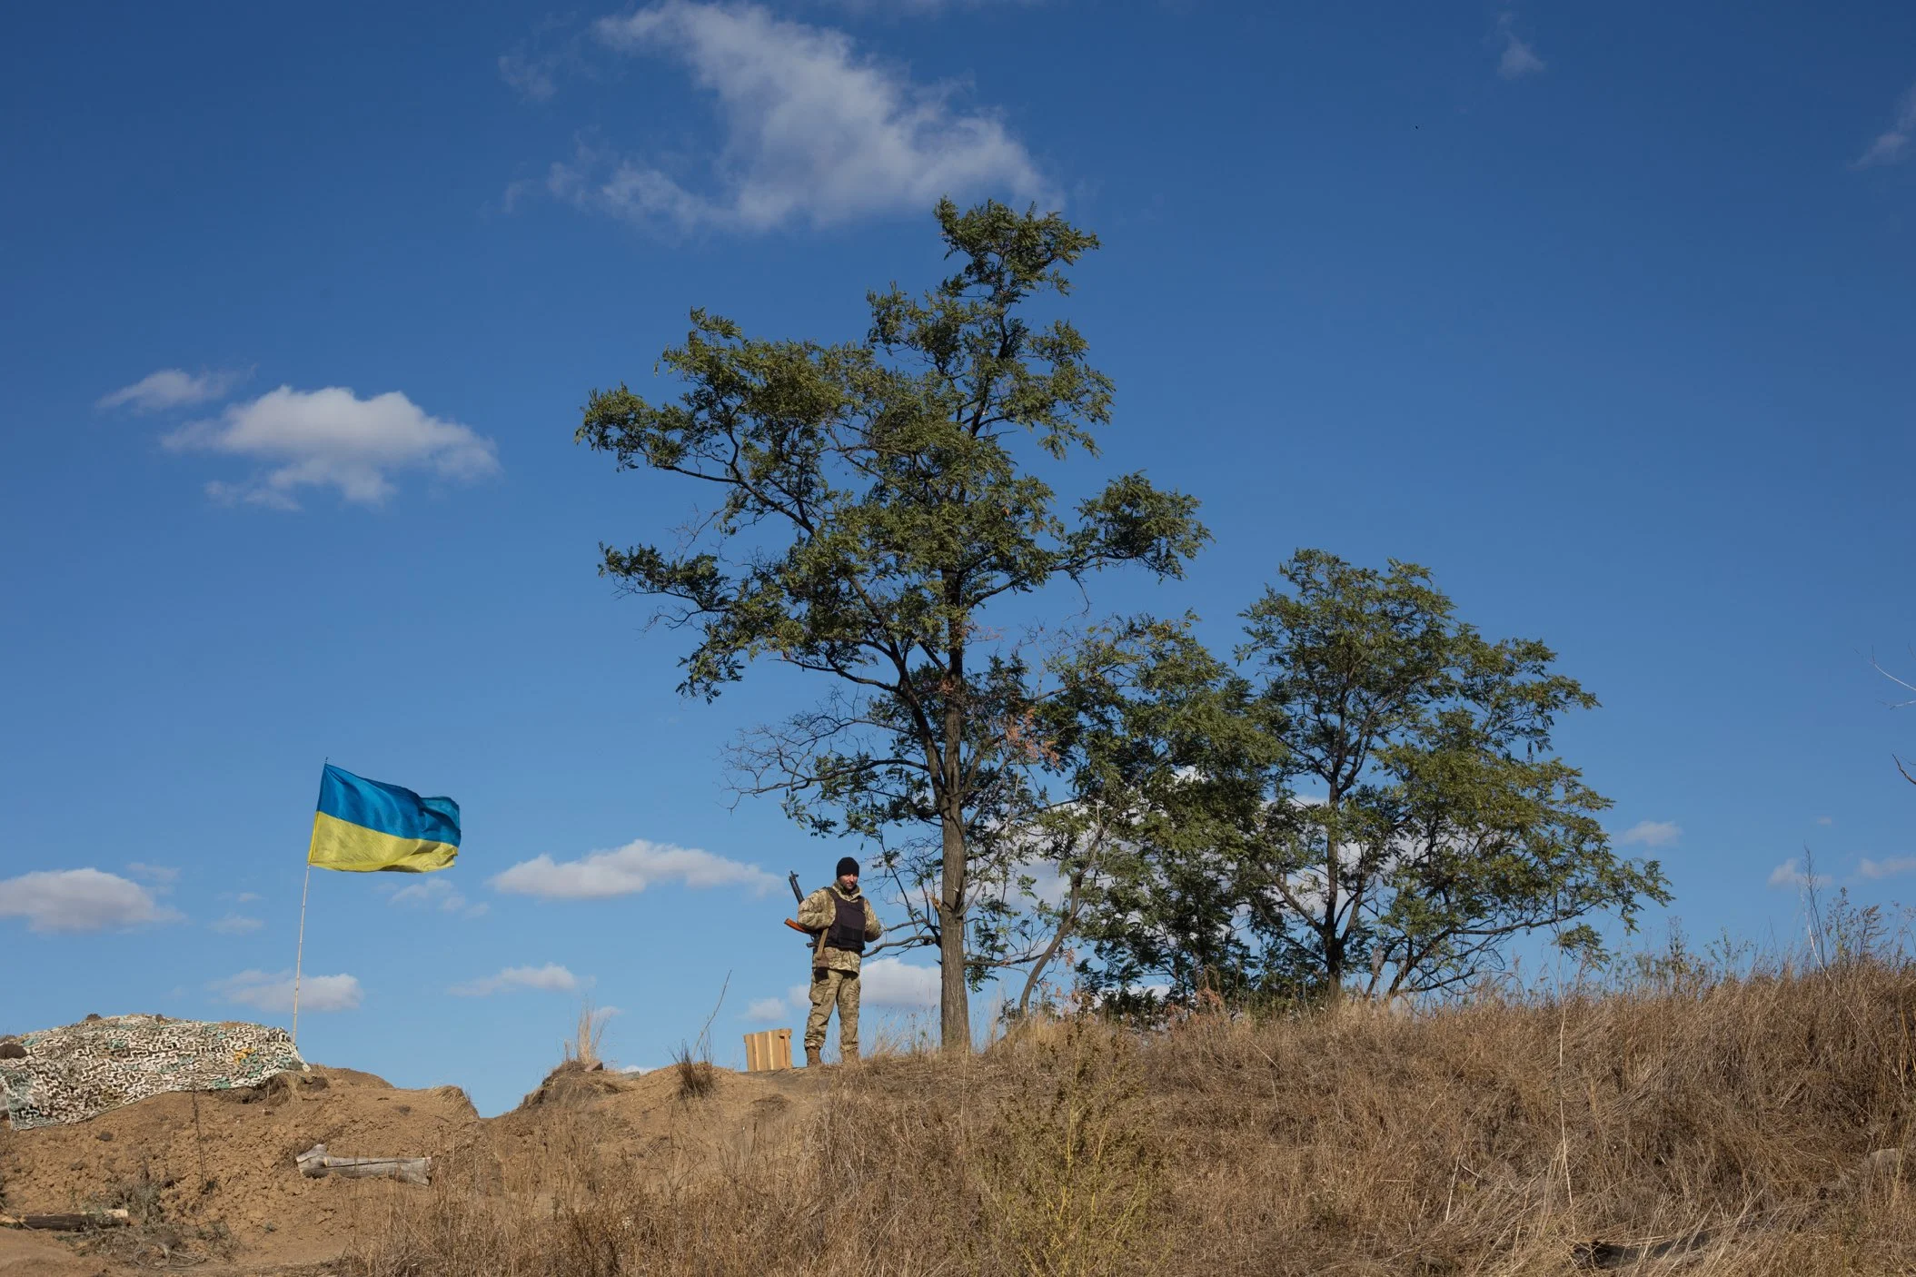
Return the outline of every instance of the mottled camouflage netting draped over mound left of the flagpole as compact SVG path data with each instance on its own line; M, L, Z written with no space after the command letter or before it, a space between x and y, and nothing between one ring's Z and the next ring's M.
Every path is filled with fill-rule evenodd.
M115 1015L44 1028L0 1049L0 1103L8 1122L34 1126L84 1122L109 1109L165 1091L226 1091L303 1070L284 1028ZM4 1059L13 1057L13 1059Z

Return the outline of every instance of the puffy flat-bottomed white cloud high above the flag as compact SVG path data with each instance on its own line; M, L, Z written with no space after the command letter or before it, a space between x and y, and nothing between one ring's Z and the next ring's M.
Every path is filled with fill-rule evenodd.
M343 387L280 387L228 406L215 421L174 431L163 442L272 467L243 484L211 482L207 496L274 509L297 509L299 488L326 486L349 502L377 505L397 490L391 475L404 469L460 481L498 471L490 438L427 415L399 391L358 398Z

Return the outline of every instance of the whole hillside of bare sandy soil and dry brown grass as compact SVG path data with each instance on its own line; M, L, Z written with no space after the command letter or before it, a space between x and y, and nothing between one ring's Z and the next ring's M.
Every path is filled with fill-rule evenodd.
M322 1068L0 1143L0 1273L1908 1273L1916 971L1420 1017L1046 1022L820 1076L567 1066L479 1120ZM111 1139L107 1139L111 1135ZM429 1189L293 1154L433 1154ZM203 1164L201 1158L203 1156ZM146 1185L142 1187L142 1168ZM211 1187L205 1187L211 1181ZM75 1254L86 1252L92 1254ZM10 1267L11 1266L11 1267Z

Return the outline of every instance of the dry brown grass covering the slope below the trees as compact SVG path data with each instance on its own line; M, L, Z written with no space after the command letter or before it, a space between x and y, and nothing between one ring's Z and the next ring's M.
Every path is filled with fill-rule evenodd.
M749 1156L581 1137L517 1191L454 1170L353 1271L1916 1273L1916 1162L1883 1153L1912 1147L1912 1032L1901 957L1414 1017L1037 1022L833 1070Z

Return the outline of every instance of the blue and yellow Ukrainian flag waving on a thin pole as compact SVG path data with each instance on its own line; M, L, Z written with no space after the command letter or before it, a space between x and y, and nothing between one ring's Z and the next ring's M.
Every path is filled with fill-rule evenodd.
M431 873L460 854L460 804L422 798L326 764L307 863L322 869Z

